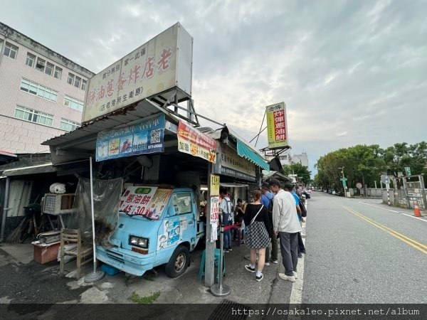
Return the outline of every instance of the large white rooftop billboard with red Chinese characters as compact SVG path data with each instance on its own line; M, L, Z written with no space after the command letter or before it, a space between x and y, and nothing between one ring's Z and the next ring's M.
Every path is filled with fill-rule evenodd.
M177 63L183 59L179 57L178 47L180 46L181 50L186 46L185 50L192 52L192 38L179 38L179 34L183 32L186 32L184 28L176 23L91 78L82 122L88 122L172 87L179 87L178 73L189 73L186 78L191 81L190 68L177 70L177 67L184 68L184 63ZM183 38L187 40L185 43L182 43ZM191 65L192 55L189 55L188 59L190 61L186 63ZM183 87L191 85L183 84Z

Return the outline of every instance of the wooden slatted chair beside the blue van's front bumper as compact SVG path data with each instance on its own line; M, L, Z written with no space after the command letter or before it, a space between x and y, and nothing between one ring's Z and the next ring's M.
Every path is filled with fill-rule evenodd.
M66 249L66 244L76 243L77 247ZM80 230L60 230L60 275L64 274L64 256L73 255L77 257L77 279L80 279L80 267L93 261L93 245L82 242Z

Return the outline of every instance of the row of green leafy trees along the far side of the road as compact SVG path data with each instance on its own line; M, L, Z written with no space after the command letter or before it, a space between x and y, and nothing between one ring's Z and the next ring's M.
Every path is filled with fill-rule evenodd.
M374 181L379 181L382 173L398 176L398 172L404 172L404 167L411 168L411 174L426 172L427 143L420 142L408 145L406 142L394 144L386 149L372 144L351 146L345 149L332 151L317 160L315 167L315 186L321 188L334 188L342 191L342 169L348 179L347 186L354 188L357 182L368 187L374 187Z

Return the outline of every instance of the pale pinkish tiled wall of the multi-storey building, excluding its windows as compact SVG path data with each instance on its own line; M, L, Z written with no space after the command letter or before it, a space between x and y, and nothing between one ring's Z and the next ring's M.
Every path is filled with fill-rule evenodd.
M14 59L4 55L6 42L18 47ZM3 23L0 23L0 43L0 149L18 154L48 152L48 147L40 144L66 133L60 129L61 118L79 124L81 122L82 112L64 105L65 95L82 102L85 100L85 90L68 84L68 73L78 75L84 80L88 80L93 73ZM40 57L46 63L61 68L61 78L57 79L53 75L36 70L36 60L33 67L26 65L27 53L36 55L36 60ZM57 91L57 101L53 102L20 90L23 78ZM46 126L14 118L16 105L52 114L53 124Z

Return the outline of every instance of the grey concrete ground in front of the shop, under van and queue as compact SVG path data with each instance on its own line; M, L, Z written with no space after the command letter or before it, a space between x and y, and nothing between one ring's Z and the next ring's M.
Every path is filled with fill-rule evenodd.
M134 303L132 294L137 297L159 296L154 304L220 304L224 298L215 297L204 279L199 282L199 266L202 250L191 252L194 262L181 277L170 279L164 274L162 267L147 272L142 277L131 277L124 272L115 276L105 275L103 279L93 284L85 284L83 277L92 272L93 265L85 265L82 278L75 279L75 261L65 264L68 275L59 276L59 263L49 262L38 265L32 261L33 248L31 244L0 245L0 284L10 279L10 272L16 270L20 274L20 282L14 286L1 286L0 301L4 303L23 302L20 294L23 288L33 286L38 292L45 292L43 299L40 294L28 295L27 303ZM226 253L226 277L224 283L231 288L231 294L225 299L237 304L287 304L290 302L292 283L278 278L278 272L283 272L281 258L278 265L265 266L264 279L255 281L255 275L244 269L248 263L245 255L249 248L246 245L234 246ZM300 260L300 262L302 262ZM3 279L1 279L3 278ZM54 288L54 290L52 290ZM36 289L35 289L36 290Z

